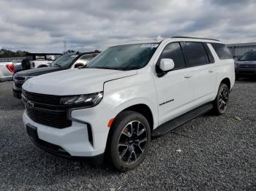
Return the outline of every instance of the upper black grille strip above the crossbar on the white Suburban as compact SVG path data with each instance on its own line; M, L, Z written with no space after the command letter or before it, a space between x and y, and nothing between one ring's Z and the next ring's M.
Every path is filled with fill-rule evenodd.
M50 105L60 105L61 97L59 95L46 95L40 93L31 93L23 90L23 95L29 100L34 101L39 104L50 104Z

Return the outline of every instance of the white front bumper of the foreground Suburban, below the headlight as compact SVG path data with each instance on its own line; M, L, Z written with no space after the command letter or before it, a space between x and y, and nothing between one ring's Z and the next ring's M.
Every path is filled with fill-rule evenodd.
M23 123L25 127L30 125L37 128L39 140L60 147L67 156L94 157L105 152L109 131L108 120L114 116L113 112L100 106L97 106L97 109L96 107L77 109L71 112L72 125L70 127L53 128L34 122L25 111ZM38 145L37 142L34 141L34 143Z

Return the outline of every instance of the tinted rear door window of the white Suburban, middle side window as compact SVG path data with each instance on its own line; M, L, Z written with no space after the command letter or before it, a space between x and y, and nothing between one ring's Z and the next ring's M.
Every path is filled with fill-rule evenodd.
M207 64L206 50L201 42L185 42L187 66L200 66Z

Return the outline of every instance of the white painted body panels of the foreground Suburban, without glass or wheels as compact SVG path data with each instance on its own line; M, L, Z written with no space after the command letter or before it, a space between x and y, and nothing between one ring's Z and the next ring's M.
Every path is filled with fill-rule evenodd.
M154 118L154 128L181 114L214 101L222 79L235 82L233 59L219 60L211 44L215 63L170 71L157 77L155 65L162 50L170 42L215 42L203 39L165 39L143 69L116 71L108 69L77 69L58 71L29 79L23 89L48 95L78 95L104 91L102 101L88 109L72 111L72 118L89 123L94 146L87 139L86 125L72 121L64 129L51 128L32 121L23 114L24 125L37 127L39 139L59 145L72 156L94 156L105 152L108 122L118 113L136 104L146 104ZM174 99L170 104L159 106Z

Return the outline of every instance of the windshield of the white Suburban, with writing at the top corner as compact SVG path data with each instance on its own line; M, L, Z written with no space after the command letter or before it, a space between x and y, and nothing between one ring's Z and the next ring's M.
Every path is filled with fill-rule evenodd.
M147 65L159 44L127 44L109 47L92 60L86 68L134 70Z

